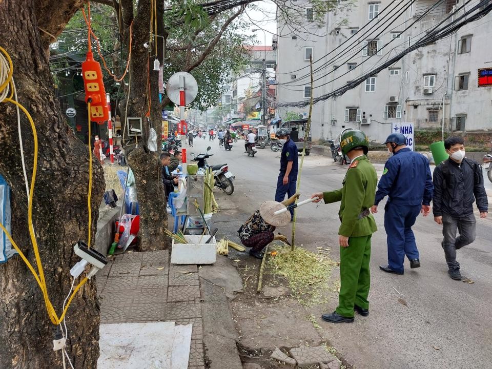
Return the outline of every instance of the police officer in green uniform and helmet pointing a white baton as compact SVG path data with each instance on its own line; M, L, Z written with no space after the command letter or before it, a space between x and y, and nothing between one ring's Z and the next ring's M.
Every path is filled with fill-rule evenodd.
M369 259L371 236L377 231L369 209L374 205L378 177L367 159L369 144L362 131L350 130L340 138L342 153L351 159L342 189L313 194L324 203L341 201L338 215L342 222L340 244L340 294L338 308L321 318L331 323L351 323L354 311L369 315L367 296L370 288Z

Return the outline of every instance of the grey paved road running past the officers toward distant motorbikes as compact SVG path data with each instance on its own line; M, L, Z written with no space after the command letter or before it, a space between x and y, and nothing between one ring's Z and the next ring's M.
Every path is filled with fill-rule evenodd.
M204 151L209 144L208 139L195 142L190 149L195 153ZM254 158L248 157L243 153L243 143L238 141L231 152L225 152L218 148L217 140L210 142L214 156L209 162L228 162L236 175L236 191L230 199L239 205L237 215L241 219L237 224L259 203L274 198L279 167L279 153L265 149ZM314 154L305 158L301 198L341 187L346 167L332 165L331 161ZM380 176L382 166L376 167ZM486 187L492 191L488 180ZM339 226L337 213L338 204L299 208L298 242L308 249L315 242L326 242L333 247L332 257L338 259L338 248L334 247ZM474 284L448 277L440 245L441 227L431 217L419 216L414 227L422 267L410 270L406 261L404 276L379 271L378 265L386 263L387 257L383 217L382 211L375 216L379 231L372 241L371 315L356 316L353 324L331 325L319 320L324 338L357 368L491 368L492 217L477 219L476 241L458 251L462 274ZM398 298L407 305L398 302ZM333 305L320 308L319 313L335 307L333 301Z

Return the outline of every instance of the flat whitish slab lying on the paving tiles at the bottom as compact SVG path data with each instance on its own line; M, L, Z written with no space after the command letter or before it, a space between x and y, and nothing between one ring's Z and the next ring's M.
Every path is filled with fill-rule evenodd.
M174 322L101 324L97 367L173 367L174 327Z

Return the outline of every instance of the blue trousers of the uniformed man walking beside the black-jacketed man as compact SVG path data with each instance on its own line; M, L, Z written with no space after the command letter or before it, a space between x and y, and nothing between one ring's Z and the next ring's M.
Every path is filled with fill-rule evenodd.
M403 272L405 255L408 260L418 259L419 250L415 243L412 226L420 214L421 205L403 206L387 203L384 208L384 229L386 230L388 244L389 268Z

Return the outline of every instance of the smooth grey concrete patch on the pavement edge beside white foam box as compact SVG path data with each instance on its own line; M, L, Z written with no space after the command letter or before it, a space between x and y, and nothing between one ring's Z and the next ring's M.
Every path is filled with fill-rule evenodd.
M198 275L209 282L223 287L228 297L234 297L232 292L242 291L242 279L237 269L226 256L219 255L215 264L203 265Z

